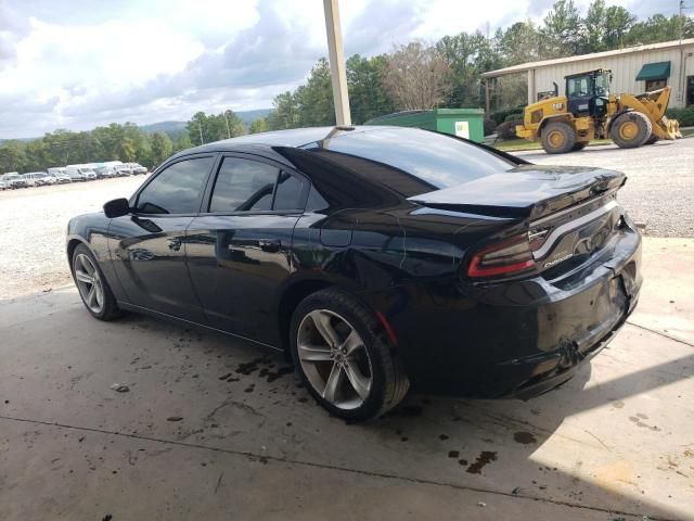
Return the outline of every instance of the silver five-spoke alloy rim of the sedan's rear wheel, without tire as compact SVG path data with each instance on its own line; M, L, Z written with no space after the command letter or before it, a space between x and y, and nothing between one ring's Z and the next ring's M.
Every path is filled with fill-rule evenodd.
M339 409L356 409L373 384L371 358L359 332L327 309L308 313L298 328L299 364L313 390Z

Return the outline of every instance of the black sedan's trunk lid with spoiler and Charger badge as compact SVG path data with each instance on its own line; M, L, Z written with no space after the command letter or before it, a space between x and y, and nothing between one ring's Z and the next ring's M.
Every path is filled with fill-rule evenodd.
M409 200L509 218L501 236L527 238L536 271L558 280L614 242L624 226L616 192L626 180L624 174L602 168L522 165Z

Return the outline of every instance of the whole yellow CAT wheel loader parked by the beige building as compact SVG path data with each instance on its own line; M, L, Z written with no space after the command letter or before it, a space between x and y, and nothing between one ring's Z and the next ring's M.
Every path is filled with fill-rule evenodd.
M622 149L681 138L680 124L665 111L670 87L643 94L611 94L612 72L605 68L566 76L566 96L531 103L523 112L516 136L540 140L548 154L581 150L591 139L612 138Z

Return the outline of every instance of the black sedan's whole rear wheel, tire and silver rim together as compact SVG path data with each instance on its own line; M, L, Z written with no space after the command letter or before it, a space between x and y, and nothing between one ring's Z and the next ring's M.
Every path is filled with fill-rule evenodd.
M376 418L410 387L401 360L373 313L349 294L321 290L297 306L290 348L307 389L348 421Z

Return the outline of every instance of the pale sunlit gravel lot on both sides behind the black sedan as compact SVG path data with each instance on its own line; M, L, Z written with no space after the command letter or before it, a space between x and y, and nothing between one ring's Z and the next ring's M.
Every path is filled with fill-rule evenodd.
M694 237L694 139L637 150L594 147L565 155L518 153L538 164L603 166L629 176L620 201L646 234ZM0 298L47 291L70 281L65 229L77 214L129 196L143 177L0 192Z

